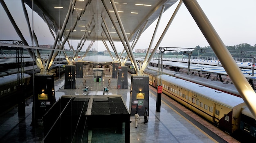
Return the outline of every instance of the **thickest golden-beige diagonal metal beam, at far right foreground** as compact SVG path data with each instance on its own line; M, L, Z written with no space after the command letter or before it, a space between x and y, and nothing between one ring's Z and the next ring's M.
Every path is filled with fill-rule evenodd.
M183 0L183 2L186 8L191 13L192 17L194 18L196 24L202 31L202 34L207 39L214 53L220 60L222 66L234 83L241 97L245 101L245 104L256 119L255 91L252 89L251 85L249 84L243 73L240 71L240 68L227 50L227 47L225 46L223 41L220 39L216 30L211 25L211 22L208 20L207 16L199 6L198 2L196 0Z

